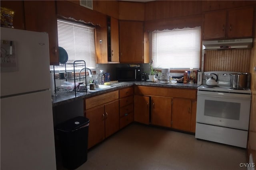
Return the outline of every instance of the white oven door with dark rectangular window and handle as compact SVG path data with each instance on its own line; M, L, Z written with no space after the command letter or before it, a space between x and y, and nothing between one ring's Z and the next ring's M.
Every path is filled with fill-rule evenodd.
M250 94L198 91L196 122L248 130Z

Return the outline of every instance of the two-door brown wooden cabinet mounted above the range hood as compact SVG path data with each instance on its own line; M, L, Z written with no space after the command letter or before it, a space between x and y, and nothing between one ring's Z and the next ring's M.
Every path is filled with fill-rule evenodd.
M253 16L253 7L207 12L203 39L253 37Z

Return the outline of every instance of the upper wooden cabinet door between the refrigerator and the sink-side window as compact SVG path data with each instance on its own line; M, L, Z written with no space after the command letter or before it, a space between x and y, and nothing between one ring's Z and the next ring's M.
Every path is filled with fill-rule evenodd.
M26 30L47 32L50 65L58 65L58 31L55 1L24 1Z

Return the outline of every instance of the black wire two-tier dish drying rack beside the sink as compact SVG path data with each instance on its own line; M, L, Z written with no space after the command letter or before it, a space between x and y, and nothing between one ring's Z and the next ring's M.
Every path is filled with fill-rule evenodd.
M64 76L64 78L60 78L60 74L56 75L55 74L55 66L53 66L53 70L54 70L54 86L55 86L55 92L57 91L64 91L64 92L73 92L75 93L75 96L76 96L76 93L80 93L80 94L86 94L88 93L87 92L87 82L86 82L86 71L84 71L84 75L76 75L76 67L77 66L84 66L84 68L86 68L86 63L85 61L83 60L76 60L76 61L68 61L67 63L65 64L62 64L60 66L64 66L65 67L65 72L67 72L67 65L68 64L73 64L73 71L74 71L74 74L73 76L70 76L70 77L67 77ZM64 87L61 87L61 86L58 86L56 87L56 79L59 79L59 80L66 80L66 82L69 80L71 82L74 82L74 84L72 84L74 87L70 87L70 88L64 88ZM85 83L85 87L84 89L80 89L79 88L79 85L80 83Z

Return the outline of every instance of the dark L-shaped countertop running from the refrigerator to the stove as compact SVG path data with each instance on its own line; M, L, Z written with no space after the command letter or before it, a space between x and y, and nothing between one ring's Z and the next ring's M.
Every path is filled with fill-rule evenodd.
M119 90L121 88L133 86L133 85L140 85L140 86L157 86L157 87L168 87L168 88L191 88L191 89L197 89L199 84L183 84L183 83L177 83L177 84L163 84L160 82L145 82L145 81L131 81L131 82L118 82L118 83L111 83L111 88L106 88L104 90L98 90L96 92L88 92L87 94L80 94L74 92L62 92L57 91L56 96L52 96L52 106L58 106L62 104L66 104L69 102L73 102L75 100L90 98L92 96L97 96L106 92L111 92L114 90Z

